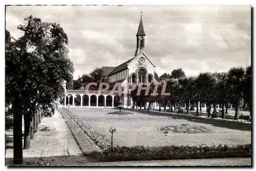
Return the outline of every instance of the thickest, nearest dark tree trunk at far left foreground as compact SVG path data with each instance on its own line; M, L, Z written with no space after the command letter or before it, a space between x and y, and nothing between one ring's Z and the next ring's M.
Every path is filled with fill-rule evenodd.
M22 100L16 97L13 106L13 164L22 164Z

